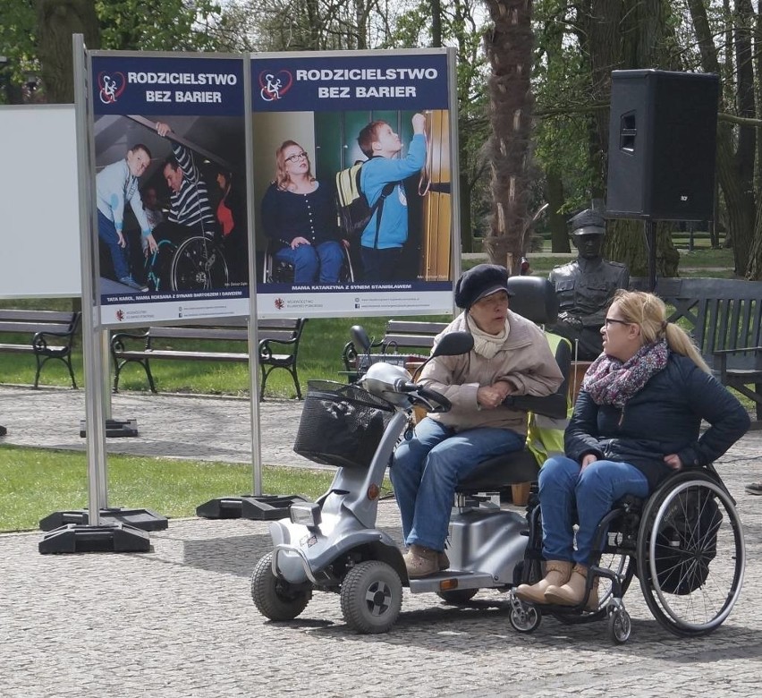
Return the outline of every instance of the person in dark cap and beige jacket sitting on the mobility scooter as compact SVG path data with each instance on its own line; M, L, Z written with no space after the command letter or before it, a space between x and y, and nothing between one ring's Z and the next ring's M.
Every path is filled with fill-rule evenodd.
M435 345L448 332L469 332L474 347L437 356L419 378L453 407L419 421L394 453L390 476L411 578L450 565L445 539L458 481L487 458L524 447L527 413L504 405L505 398L551 395L563 382L543 332L508 310L507 280L505 268L493 264L479 264L458 280L455 302L463 312Z

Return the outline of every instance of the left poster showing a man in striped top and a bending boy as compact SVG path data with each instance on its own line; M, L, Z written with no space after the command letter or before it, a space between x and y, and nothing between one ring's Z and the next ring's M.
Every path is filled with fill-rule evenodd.
M244 63L91 53L104 325L249 315Z

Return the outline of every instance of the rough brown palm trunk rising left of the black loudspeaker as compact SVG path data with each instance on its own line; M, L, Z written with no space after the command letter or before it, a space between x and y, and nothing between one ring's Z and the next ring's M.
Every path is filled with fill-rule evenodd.
M531 235L529 138L533 98L531 0L487 0L494 27L486 37L492 71L487 81L492 136L492 216L485 239L489 260L518 273Z

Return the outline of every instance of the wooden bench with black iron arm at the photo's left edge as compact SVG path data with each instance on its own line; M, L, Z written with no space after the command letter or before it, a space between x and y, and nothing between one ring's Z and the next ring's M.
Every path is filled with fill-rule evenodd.
M34 387L48 359L58 359L69 369L72 387L77 387L72 369L72 345L80 325L76 311L0 310L0 333L8 342L0 344L0 352L33 353L37 361Z

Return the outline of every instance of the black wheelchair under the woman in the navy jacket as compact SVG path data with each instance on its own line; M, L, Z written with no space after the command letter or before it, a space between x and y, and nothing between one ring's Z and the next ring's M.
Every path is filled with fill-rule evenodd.
M542 578L542 522L533 492L521 580ZM721 626L741 593L746 550L735 501L713 465L675 472L647 499L617 502L599 524L590 555L587 592L600 580L597 609L533 605L511 592L512 627L535 631L548 614L564 624L607 619L614 643L625 643L631 619L622 597L638 577L648 610L670 633L709 634ZM587 597L587 594L586 594Z

